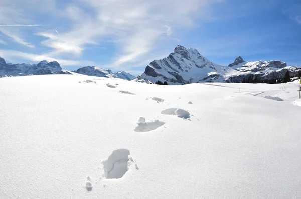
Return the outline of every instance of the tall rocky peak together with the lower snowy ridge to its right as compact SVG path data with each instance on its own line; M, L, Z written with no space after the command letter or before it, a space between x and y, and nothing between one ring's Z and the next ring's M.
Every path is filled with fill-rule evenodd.
M256 79L258 82L276 83L282 81L287 71L294 77L300 69L277 60L247 62L241 56L228 66L222 66L206 59L194 48L186 49L178 45L168 57L150 62L137 81L160 80L175 85L198 82L241 83L247 79Z

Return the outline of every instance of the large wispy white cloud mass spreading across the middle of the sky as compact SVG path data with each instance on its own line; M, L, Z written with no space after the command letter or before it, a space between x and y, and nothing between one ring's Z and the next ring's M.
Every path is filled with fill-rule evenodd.
M88 44L111 39L116 48L112 65L139 62L143 55L156 50L172 38L172 29L193 25L195 18L206 18L209 6L219 0L80 0L65 9L71 20L69 31L60 35L40 32L47 38L43 45L52 48L51 55L81 55ZM80 9L81 4L85 10Z

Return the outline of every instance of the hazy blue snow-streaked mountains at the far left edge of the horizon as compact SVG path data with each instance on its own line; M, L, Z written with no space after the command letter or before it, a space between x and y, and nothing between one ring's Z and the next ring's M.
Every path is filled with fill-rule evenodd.
M46 74L72 74L63 70L57 61L41 61L38 64L7 64L0 58L0 77L4 76L26 76Z

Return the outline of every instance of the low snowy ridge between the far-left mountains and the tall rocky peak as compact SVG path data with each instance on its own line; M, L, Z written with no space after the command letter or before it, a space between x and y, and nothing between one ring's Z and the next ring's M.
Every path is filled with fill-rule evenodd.
M76 73L89 76L107 77L107 78L120 78L125 80L134 80L135 76L126 73L125 71L119 71L113 73L111 70L102 69L96 66L85 66L77 69Z

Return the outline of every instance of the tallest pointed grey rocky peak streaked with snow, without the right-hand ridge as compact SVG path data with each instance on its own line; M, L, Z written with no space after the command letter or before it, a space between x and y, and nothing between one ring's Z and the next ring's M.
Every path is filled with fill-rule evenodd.
M204 58L196 49L177 46L173 53L162 60L150 62L140 79L151 82L167 81L169 84L189 84L206 78L213 81L208 73L218 72L220 65L216 65Z

